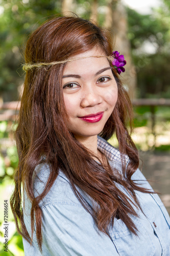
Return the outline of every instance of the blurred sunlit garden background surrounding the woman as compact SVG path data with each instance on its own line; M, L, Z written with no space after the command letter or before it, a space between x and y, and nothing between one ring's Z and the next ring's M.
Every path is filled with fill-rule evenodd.
M127 2L127 1L126 1ZM13 190L18 158L12 131L16 102L25 73L24 46L28 36L47 18L77 13L105 26L116 38L114 50L127 60L123 83L134 105L132 137L143 160L143 174L170 214L170 2L160 0L149 14L123 0L0 0L0 254L24 255L9 207L9 246L4 252L4 200ZM117 146L113 137L111 144Z

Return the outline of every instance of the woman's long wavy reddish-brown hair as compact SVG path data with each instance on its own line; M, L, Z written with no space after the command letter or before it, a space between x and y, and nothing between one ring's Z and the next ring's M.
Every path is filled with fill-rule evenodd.
M41 25L30 36L25 59L26 62L32 63L60 61L94 47L109 56L112 53L111 35L80 17L55 17ZM117 82L118 99L100 136L108 140L114 133L116 134L124 177L117 176L102 162L96 162L94 160L96 156L68 131L68 116L61 87L65 65L61 63L27 71L15 132L19 163L14 175L15 189L11 197L11 208L17 231L28 242L32 241L34 224L36 224L36 237L40 250L42 211L39 203L51 189L59 170L67 176L76 197L91 214L99 230L106 234L107 226L110 223L113 226L114 218L122 219L127 227L137 234L137 229L130 218L130 215L137 216L133 201L134 205L140 208L134 190L148 193L148 190L131 180L139 165L138 152L127 129L132 123L132 105L112 63L110 62L110 66ZM130 159L127 167L125 154ZM45 156L44 160L42 156ZM33 175L36 166L42 161L50 165L51 172L42 194L35 197ZM116 182L126 188L133 200L128 199L116 187ZM23 221L22 185L32 203L31 235ZM96 202L95 209L86 203L77 187Z

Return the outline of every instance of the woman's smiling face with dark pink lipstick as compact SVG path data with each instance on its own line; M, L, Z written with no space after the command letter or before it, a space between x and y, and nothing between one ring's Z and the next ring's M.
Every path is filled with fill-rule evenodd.
M73 58L105 56L93 49ZM78 140L102 132L117 101L117 84L107 58L88 57L68 62L62 88L69 117L68 129Z

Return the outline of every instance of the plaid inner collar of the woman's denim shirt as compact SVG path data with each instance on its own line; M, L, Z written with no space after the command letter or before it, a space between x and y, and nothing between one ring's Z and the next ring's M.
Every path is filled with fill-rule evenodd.
M105 139L98 136L98 149L111 161L120 162L121 156L119 150L109 144ZM129 157L125 155L125 159L129 160Z

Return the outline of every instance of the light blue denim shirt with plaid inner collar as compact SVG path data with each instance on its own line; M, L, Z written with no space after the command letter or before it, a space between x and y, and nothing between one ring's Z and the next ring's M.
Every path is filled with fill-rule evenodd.
M98 148L103 152L112 168L122 172L119 151L106 140L98 137ZM128 164L129 158L126 156ZM35 196L42 193L50 167L38 166L35 179ZM132 179L140 186L152 190L139 169ZM118 186L118 185L117 185ZM126 194L124 187L119 186ZM153 190L152 190L153 191ZM170 255L170 218L157 194L135 191L143 213L136 209L139 217L132 217L138 229L135 236L122 220L114 220L113 228L108 226L108 236L95 225L91 215L84 209L75 196L69 180L60 171L52 188L40 202L42 209L42 253L36 239L36 228L32 246L23 239L26 256L169 256ZM92 200L85 193L82 197L92 206ZM25 193L23 217L31 236L31 203Z

